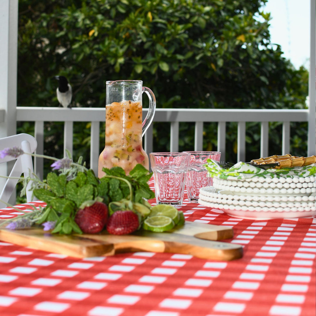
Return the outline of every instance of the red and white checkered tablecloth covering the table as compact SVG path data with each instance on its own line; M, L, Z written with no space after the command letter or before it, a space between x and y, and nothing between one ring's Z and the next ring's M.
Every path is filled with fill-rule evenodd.
M188 221L233 227L227 241L242 244L243 257L135 252L78 259L0 241L0 315L315 315L315 219L239 219L186 199L181 210ZM17 213L3 209L0 218Z

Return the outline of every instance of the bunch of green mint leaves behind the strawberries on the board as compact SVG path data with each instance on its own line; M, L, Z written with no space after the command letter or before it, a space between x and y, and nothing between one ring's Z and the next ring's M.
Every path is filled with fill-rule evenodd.
M142 203L143 198L155 197L147 183L152 173L141 164L129 175L120 167L103 168L103 171L106 175L101 179L91 169L78 171L72 179L67 179L64 173L49 173L45 187L33 191L35 197L47 203L36 224L56 221L52 233L81 234L74 219L83 202L99 197L107 205L122 199Z

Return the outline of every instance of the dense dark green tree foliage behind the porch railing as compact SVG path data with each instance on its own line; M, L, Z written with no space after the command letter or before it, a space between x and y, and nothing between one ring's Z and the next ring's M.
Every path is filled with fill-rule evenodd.
M20 0L18 105L58 106L52 78L64 75L79 106L105 107L107 80L139 79L161 108L304 108L307 71L295 70L281 47L271 46L265 2ZM154 127L154 150L168 150L166 128ZM75 143L89 143L87 128L75 129ZM282 127L271 128L275 154ZM300 135L292 140L292 154L301 155L307 126L293 129ZM52 135L59 130L50 126ZM180 150L193 150L193 126L181 124L180 131ZM216 124L205 125L204 132L204 149L216 149ZM229 124L231 161L236 133ZM259 138L258 124L247 124L249 158L258 156ZM61 140L53 140L55 153Z

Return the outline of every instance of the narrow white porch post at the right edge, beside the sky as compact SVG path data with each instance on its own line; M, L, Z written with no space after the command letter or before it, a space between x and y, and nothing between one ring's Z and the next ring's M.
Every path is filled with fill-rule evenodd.
M308 115L308 144L307 153L309 156L315 155L316 152L316 2L311 0L311 22L310 22L310 58L309 58L309 79L308 79L308 100L309 100L309 115Z

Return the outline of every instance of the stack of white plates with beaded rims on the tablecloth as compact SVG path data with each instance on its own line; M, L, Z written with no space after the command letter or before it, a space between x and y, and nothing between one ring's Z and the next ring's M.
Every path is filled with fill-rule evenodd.
M250 219L298 218L316 214L314 176L226 180L213 178L198 202L230 216Z

